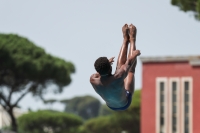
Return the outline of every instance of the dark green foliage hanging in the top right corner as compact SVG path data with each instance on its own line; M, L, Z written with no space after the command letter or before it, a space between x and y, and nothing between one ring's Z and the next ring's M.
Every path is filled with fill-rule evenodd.
M195 18L200 20L200 0L171 0L171 4L184 12L193 11Z

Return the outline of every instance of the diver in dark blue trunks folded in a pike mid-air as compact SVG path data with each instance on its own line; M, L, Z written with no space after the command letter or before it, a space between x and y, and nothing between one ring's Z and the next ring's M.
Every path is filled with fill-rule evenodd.
M112 74L114 57L99 57L94 67L97 73L91 75L90 83L112 110L126 110L132 101L135 90L135 67L140 51L136 50L136 27L125 24L122 27L123 44L118 56L117 67ZM130 43L129 53L128 45ZM128 57L127 57L128 56Z

